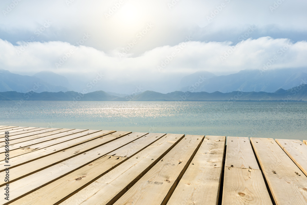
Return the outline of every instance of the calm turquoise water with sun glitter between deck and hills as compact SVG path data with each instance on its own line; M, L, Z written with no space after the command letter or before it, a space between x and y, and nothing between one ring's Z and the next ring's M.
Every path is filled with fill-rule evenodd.
M0 124L307 140L307 102L0 101Z

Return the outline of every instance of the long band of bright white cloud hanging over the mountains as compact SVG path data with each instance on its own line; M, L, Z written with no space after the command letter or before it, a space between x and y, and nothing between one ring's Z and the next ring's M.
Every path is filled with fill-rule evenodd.
M67 42L19 42L12 45L0 40L0 65L4 69L18 72L21 69L39 72L96 72L103 70L115 77L121 73L138 78L154 75L189 74L199 70L213 73L237 72L242 69L260 69L270 59L277 56L275 68L307 67L307 42L292 43L289 39L261 37L247 39L231 46L231 42L187 41L175 46L162 46L137 57L126 55L120 59L114 51L110 56L92 47L75 46ZM23 46L27 48L23 52ZM72 54L69 52L72 51ZM173 57L172 57L173 53ZM65 57L66 56L68 57ZM62 59L62 61L60 61ZM165 64L165 66L164 66ZM161 70L157 69L161 66Z

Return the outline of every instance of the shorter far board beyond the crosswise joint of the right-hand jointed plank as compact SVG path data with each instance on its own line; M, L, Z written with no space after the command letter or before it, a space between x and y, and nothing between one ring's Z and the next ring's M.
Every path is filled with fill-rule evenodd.
M259 169L248 137L227 137L225 167Z

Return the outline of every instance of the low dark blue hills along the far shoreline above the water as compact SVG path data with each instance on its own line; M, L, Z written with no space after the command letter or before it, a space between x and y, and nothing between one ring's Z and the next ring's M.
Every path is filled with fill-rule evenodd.
M307 101L307 84L302 84L292 89L278 89L274 93L266 92L241 92L233 91L231 93L207 93L207 92L181 92L157 93L154 91L145 91L136 96L117 97L104 91L95 91L91 93L69 92L42 92L42 93L18 93L8 91L0 93L0 100L50 100L50 101Z

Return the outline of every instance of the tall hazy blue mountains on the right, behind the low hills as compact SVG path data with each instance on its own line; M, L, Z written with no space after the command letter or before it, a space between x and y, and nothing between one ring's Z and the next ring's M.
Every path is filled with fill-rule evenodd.
M203 80L204 79L204 80ZM245 92L275 92L307 83L307 69L241 70L239 73L216 76L209 72L198 72L181 80L180 91L228 93L236 90Z

